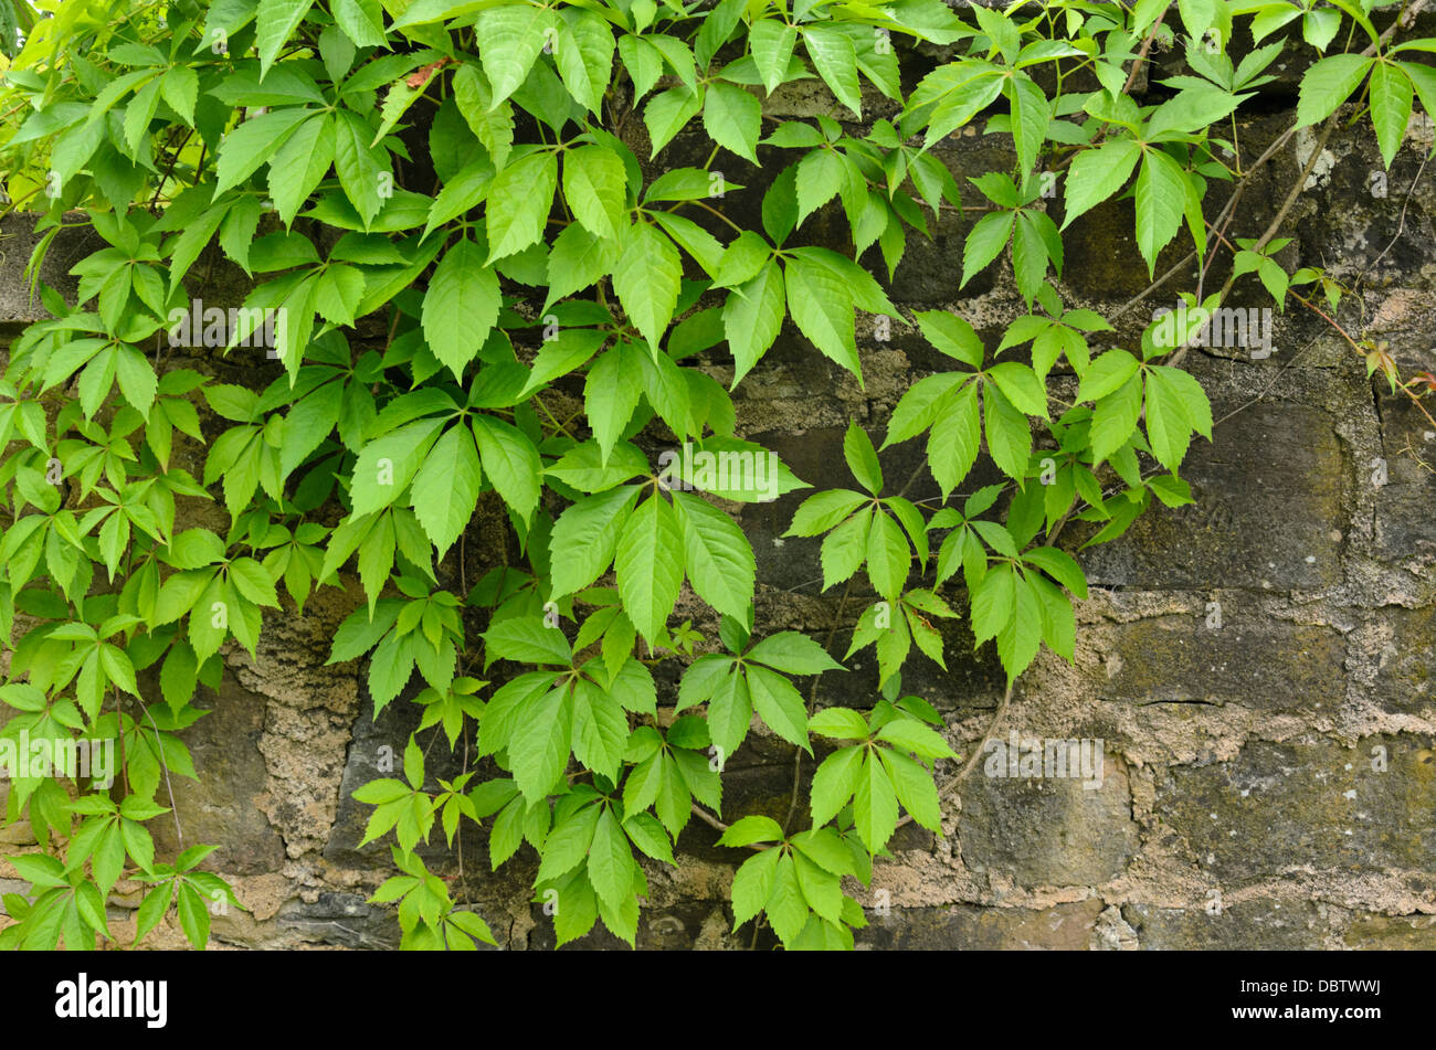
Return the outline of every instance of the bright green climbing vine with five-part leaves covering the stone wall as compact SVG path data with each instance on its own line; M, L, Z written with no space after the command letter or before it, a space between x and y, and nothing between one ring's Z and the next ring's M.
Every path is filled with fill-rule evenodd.
M30 892L4 895L0 945L113 940L122 878L145 885L135 941L174 908L204 945L215 905L238 907L198 868L213 846L161 861L146 826L195 776L197 689L227 645L256 656L266 614L356 578L329 661L366 661L376 716L422 707L402 769L355 793L365 843L392 842L373 901L398 902L404 947L494 942L421 858L439 833L482 826L494 868L536 851L560 944L596 922L632 944L639 858L673 865L699 819L741 859L735 927L850 948L866 919L844 878L869 884L900 823L941 833L959 760L902 668L945 666L935 621L956 617L1010 693L1043 645L1073 660L1087 585L1057 539L1192 502L1182 463L1213 420L1180 366L1234 284L1337 323L1341 285L1284 268L1281 222L1351 113L1390 165L1414 102L1436 112L1436 40L1400 32L1425 6L0 0L0 165L39 215L49 314L0 380L4 818L36 839L7 858ZM1235 115L1298 44L1321 57L1297 122L1254 156ZM1159 77L1155 46L1185 72ZM768 115L794 82L831 115ZM1298 185L1244 230L1249 179L1308 126ZM1011 143L1005 171L949 171L938 146L971 128ZM1139 341L1058 291L1064 231L1117 197L1147 293L1199 274ZM959 214L954 297L1008 260L1028 310L995 341L886 291L910 238ZM101 247L72 303L39 275L75 227ZM225 265L247 295L207 307ZM859 333L951 359L877 446L847 429L852 485L806 493L787 528L821 538L840 588L823 641L755 621L725 509L808 488L740 438L731 399L787 323L857 383ZM1420 403L1384 347L1341 334ZM230 364L260 383L220 382ZM879 452L915 440L919 472L892 478ZM984 458L1002 481L972 488ZM939 495L909 499L923 472ZM205 503L227 528L195 524ZM508 547L470 580L484 508ZM717 637L676 623L685 590ZM882 694L819 704L869 647ZM754 716L794 747L793 803L729 825L722 769ZM431 775L435 747L458 776Z

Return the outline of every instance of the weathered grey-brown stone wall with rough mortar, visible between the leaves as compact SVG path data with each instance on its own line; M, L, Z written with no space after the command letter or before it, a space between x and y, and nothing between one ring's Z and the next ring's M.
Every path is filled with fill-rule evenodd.
M1429 36L1436 26L1425 29ZM1308 60L1282 65L1282 76L1239 110L1244 156L1290 126ZM1175 65L1159 52L1152 77ZM839 115L813 83L784 89L770 112ZM885 99L870 103L873 116L892 110ZM1234 235L1265 228L1311 142L1297 136L1254 181ZM646 143L633 145L648 156ZM1371 174L1381 165L1369 123L1338 131L1288 218L1295 240L1281 255L1288 270L1324 265L1354 285L1343 324L1387 340L1403 373L1436 372L1430 148L1432 123L1417 115L1379 197ZM1005 136L971 129L939 152L959 181L1012 161ZM705 156L692 135L665 153L671 164ZM740 224L755 222L764 179L725 159L725 175L747 188L729 194L724 208ZM1226 192L1213 185L1211 199ZM1048 207L1060 215L1060 192ZM846 225L836 208L804 232L841 250ZM969 222L945 212L931 244L913 235L889 294L905 310L959 311L995 346L1005 323L1025 310L1005 258L958 290ZM10 219L0 241L0 321L11 334L34 316L19 275L33 244L27 230L27 221ZM1189 247L1170 248L1157 273ZM69 287L63 270L85 251L57 242L47 280ZM866 261L879 270L876 252ZM1226 265L1221 258L1213 265L1209 290L1225 280ZM1110 201L1070 228L1058 288L1068 307L1113 316L1147 285L1142 270L1130 199ZM1195 274L1179 274L1120 318L1113 344L1134 347L1152 310L1192 288ZM1251 275L1234 295L1234 306L1269 306ZM860 317L859 344L866 389L785 328L735 393L740 435L775 449L817 488L849 485L840 455L847 422L880 442L902 392L943 367L902 326L879 341ZM1221 420L1215 440L1199 440L1183 469L1195 506L1155 506L1117 542L1081 552L1090 529L1063 535L1093 585L1077 608L1076 664L1044 650L994 734L1099 739L1101 786L988 777L979 765L945 806L941 838L908 825L892 858L876 865L873 892L860 894L870 905L862 947L1436 948L1436 432L1404 397L1374 386L1350 346L1298 306L1277 317L1274 346L1264 360L1241 347L1188 357ZM192 364L224 382L270 377L253 361ZM721 353L704 366L731 377ZM1063 389L1070 393L1074 382L1060 380ZM653 449L663 446L663 435L652 439ZM188 455L198 473L202 452ZM919 462L920 442L883 455L889 476L906 478ZM982 462L965 491L995 476ZM909 495L935 496L936 486L923 475ZM781 538L800 499L741 508L758 559L757 621L760 630L791 627L824 638L836 617L833 648L841 656L870 598L854 592L840 610L836 592L819 592L817 541ZM221 508L202 514L225 525ZM462 569L470 584L505 557L503 528L493 508L472 522ZM457 587L458 571L448 568ZM248 908L215 921L218 945L373 948L398 940L392 908L365 904L392 871L388 845L358 846L368 808L349 795L379 775L382 747L402 750L418 709L401 700L375 720L365 668L323 666L358 594L350 582L317 594L303 615L266 617L257 658L227 648L223 687L201 689L197 703L211 713L187 733L201 780L177 782L175 802L185 842L221 843L213 866ZM965 607L965 595L955 604ZM676 615L717 637L692 595L685 592ZM471 637L477 630L481 623ZM954 747L968 756L992 724L1004 681L991 645L972 653L965 617L943 631L949 670L915 656L905 691L936 706ZM873 701L870 650L850 667L823 678L820 704ZM672 673L659 684L671 703ZM431 750L431 776L445 773L434 757L442 750L442 742ZM724 818L781 819L791 776L791 747L755 730L725 773ZM154 828L168 855L172 826ZM22 848L26 832L23 825L0 832L6 851ZM435 833L438 845L425 856L478 902L505 947L551 947L550 919L528 899L531 851L490 874L487 849L474 839L467 833L458 858ZM652 894L639 947L748 947L747 930L731 932L727 907L732 851L714 839L695 820L679 839L676 869L646 865ZM10 888L7 875L0 862L0 888ZM138 894L125 899L134 907ZM125 914L116 909L121 922ZM178 935L161 930L152 940L168 945ZM576 947L616 944L599 927Z

